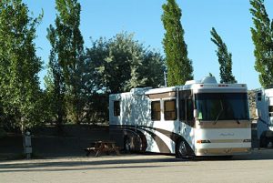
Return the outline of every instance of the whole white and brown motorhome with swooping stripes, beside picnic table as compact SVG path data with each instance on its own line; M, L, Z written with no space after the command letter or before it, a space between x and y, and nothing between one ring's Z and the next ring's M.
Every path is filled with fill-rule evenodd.
M248 89L215 77L109 96L110 136L126 151L233 156L251 147Z

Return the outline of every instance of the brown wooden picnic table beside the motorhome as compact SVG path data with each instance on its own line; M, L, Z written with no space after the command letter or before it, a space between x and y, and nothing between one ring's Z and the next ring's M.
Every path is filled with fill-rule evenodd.
M95 152L95 157L101 155L101 153L105 152L109 155L110 152L116 152L116 155L120 155L119 147L116 146L115 141L111 140L99 140L95 142L91 142L91 147L86 147L86 157L90 155L91 152Z

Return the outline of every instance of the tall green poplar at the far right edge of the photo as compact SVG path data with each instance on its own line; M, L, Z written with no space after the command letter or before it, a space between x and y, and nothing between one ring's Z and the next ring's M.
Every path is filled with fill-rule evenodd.
M273 86L273 21L268 18L264 0L250 0L255 27L251 27L252 40L255 46L255 69L259 73L261 86Z

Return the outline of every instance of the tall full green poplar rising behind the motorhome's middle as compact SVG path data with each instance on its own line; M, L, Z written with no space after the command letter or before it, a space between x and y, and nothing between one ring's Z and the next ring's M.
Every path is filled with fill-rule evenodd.
M167 85L184 85L187 80L193 79L193 67L187 57L184 29L180 23L181 9L175 0L167 0L162 8L161 19L166 29L163 45L167 60Z

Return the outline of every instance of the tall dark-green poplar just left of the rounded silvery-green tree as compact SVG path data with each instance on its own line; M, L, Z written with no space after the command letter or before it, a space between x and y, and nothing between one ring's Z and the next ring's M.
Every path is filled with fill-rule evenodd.
M53 97L57 124L66 117L80 123L84 107L84 40L79 30L81 6L76 0L56 0L56 27L50 25L47 38L52 50L49 56L48 97ZM52 93L52 94L50 94ZM67 113L66 113L67 112Z

